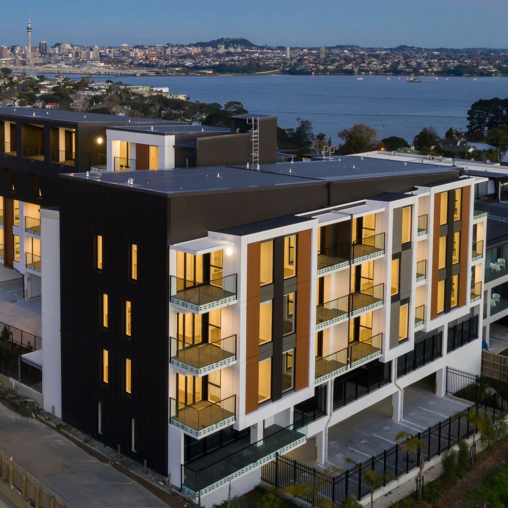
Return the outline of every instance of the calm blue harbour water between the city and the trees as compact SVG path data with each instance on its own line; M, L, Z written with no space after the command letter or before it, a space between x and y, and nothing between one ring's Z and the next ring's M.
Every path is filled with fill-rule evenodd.
M72 78L72 76L70 76ZM76 79L76 76L74 76ZM106 77L96 77L104 81ZM114 78L113 78L114 79ZM508 78L406 78L364 76L208 76L120 77L130 84L169 86L192 101L240 101L251 113L275 114L281 127L295 127L295 118L309 119L338 143L337 132L354 123L375 127L379 139L401 136L407 141L432 125L443 136L453 127L466 129L467 110L478 99L508 97Z

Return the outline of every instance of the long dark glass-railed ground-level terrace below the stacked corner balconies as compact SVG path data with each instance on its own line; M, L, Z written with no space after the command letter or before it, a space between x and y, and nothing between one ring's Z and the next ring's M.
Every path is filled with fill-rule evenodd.
M263 431L263 439L249 443L249 436L182 466L182 492L198 500L200 494L226 485L231 478L272 461L275 454L284 454L305 443L304 432L293 425L271 425Z

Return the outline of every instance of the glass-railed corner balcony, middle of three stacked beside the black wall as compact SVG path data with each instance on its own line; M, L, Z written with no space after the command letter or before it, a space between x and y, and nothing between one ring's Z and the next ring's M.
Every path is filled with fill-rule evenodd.
M236 335L216 342L189 344L171 337L171 364L201 377L236 363Z

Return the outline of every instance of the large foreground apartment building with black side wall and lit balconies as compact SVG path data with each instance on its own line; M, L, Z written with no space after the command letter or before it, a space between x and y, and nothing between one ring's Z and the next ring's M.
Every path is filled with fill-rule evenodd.
M167 164L170 130L108 129L107 171L62 175L43 214L43 312L59 300L43 323L45 407L211 506L312 436L325 464L330 426L378 400L400 421L419 379L442 396L446 366L480 372L485 179L263 150L254 167L113 171L120 143L137 157L145 136Z

